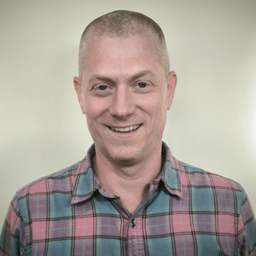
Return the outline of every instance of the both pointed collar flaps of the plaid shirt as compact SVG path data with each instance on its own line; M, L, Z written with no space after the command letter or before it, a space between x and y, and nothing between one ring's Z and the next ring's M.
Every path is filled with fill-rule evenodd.
M164 183L166 190L170 194L177 195L180 199L182 199L183 194L178 162L172 156L172 152L166 143L162 143L162 153L165 157L162 171L160 172L160 175L150 183L148 193L152 195L161 181ZM92 146L90 146L88 149L87 155L79 163L73 183L72 204L90 199L96 190L105 197L117 197L116 195L108 194L108 192L102 189L102 183L99 181L98 177L96 177L96 174L91 166L91 160L94 155L95 146L92 144Z

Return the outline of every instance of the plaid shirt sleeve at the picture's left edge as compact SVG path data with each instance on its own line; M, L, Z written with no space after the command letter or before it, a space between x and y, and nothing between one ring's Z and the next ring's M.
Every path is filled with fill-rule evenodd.
M17 196L9 206L0 237L0 255L26 255L26 236Z

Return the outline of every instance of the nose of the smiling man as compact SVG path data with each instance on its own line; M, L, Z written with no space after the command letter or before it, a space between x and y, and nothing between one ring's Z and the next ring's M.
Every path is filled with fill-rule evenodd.
M125 118L134 111L134 96L125 86L119 86L111 99L109 113L119 118Z

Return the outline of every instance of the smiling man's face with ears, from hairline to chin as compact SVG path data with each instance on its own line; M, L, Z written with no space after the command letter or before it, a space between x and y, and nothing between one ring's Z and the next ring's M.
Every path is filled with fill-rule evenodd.
M159 151L176 81L173 72L166 80L150 40L104 37L89 44L82 84L74 84L96 154L133 164Z

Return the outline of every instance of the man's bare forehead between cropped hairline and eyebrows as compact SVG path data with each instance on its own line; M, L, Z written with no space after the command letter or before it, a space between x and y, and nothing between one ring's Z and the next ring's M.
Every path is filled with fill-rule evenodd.
M84 53L84 73L133 72L163 69L153 40L129 37L99 37L90 40Z

